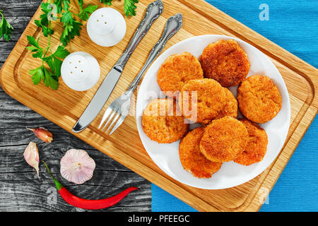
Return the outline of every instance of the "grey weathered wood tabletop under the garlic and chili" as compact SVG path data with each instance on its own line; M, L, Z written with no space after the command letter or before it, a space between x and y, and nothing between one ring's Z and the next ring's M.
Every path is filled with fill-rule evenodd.
M10 42L0 40L0 68L41 1L0 1L0 9L4 11L8 22L14 28ZM40 126L44 126L53 133L52 143L40 141L31 131L25 129ZM35 169L30 167L23 158L23 152L30 141L37 143L40 160L45 160L57 179L76 196L88 199L107 198L129 186L139 188L117 205L102 211L151 210L150 182L13 100L1 88L0 127L0 211L82 210L64 202L42 163L40 179L37 178ZM59 174L59 160L70 148L88 151L90 157L93 157L96 162L93 178L82 185L67 182Z

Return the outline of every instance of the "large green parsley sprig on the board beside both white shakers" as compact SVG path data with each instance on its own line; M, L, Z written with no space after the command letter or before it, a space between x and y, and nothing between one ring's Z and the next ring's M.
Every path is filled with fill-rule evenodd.
M80 35L81 26L83 25L74 16L77 16L81 20L88 20L89 14L98 8L98 6L91 4L83 7L83 0L78 0L78 4L80 12L77 14L71 12L70 0L56 0L54 4L49 0L41 4L43 14L40 16L40 20L35 20L35 24L37 27L42 28L42 33L45 37L49 37L49 42L47 47L40 47L40 38L35 40L35 37L28 35L29 46L26 48L33 53L32 56L34 58L42 60L41 66L30 70L34 85L43 81L47 87L53 90L57 90L59 87L62 60L69 55L69 51L65 47L76 35ZM54 31L51 28L51 23L58 19L64 28L60 37L61 44L63 45L59 45L57 50L53 52L51 49L51 38Z

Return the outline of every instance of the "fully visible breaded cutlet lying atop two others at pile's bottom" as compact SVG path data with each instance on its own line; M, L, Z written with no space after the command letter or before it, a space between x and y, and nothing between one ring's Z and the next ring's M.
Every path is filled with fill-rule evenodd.
M245 150L247 140L247 129L242 122L232 117L223 117L206 126L200 150L208 160L229 162Z

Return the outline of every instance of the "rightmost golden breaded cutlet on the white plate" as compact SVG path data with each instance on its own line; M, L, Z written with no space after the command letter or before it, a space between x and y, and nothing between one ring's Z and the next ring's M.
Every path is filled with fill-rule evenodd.
M250 76L237 89L240 111L247 119L265 123L281 110L281 93L267 76Z

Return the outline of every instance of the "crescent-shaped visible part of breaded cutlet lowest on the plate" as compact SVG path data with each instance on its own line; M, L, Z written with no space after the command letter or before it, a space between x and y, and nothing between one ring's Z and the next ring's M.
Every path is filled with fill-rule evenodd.
M204 128L199 127L189 131L179 144L179 157L185 170L199 178L210 178L218 172L222 162L211 162L200 151L199 143L204 134Z

